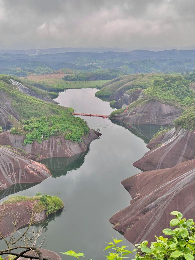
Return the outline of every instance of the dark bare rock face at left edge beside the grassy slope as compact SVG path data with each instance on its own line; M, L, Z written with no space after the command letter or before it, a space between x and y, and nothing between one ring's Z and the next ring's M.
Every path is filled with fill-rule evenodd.
M10 116L19 120L19 114L12 108L11 100L7 97L6 93L0 91L0 126L12 126Z

